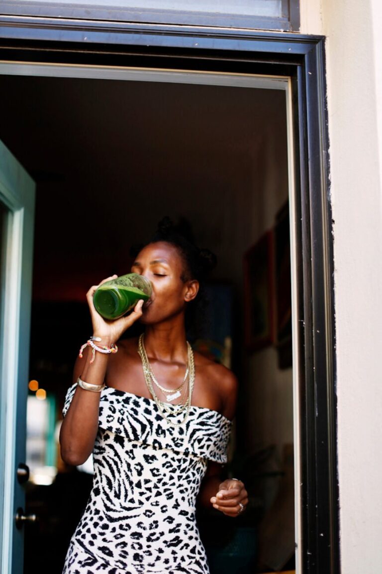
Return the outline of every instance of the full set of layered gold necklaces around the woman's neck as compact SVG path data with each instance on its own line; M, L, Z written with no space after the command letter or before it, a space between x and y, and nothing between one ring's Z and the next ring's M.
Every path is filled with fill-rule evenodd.
M143 374L146 384L148 386L148 390L150 391L151 396L155 401L155 404L160 414L162 414L162 417L166 419L168 424L172 426L183 425L187 421L188 415L190 414L192 390L194 389L194 382L195 382L194 353L192 352L191 345L187 341L187 366L186 366L186 374L184 375L182 384L176 387L176 389L166 389L166 387L163 387L162 385L159 384L159 382L155 378L155 375L152 372L147 357L147 353L144 347L143 339L144 335L142 333L138 341L138 354L142 361ZM157 389L159 389L164 394L168 402L175 401L175 399L179 397L181 397L181 401L176 405L167 405L165 402L160 401L153 387L153 383L157 387ZM170 406L172 407L172 409L175 408L175 410L172 410ZM174 422L172 420L172 417L177 417L180 413L183 412L185 414L182 421Z

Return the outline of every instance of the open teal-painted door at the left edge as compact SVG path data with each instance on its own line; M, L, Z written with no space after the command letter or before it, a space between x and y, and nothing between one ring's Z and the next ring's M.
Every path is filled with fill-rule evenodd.
M25 463L26 400L32 289L35 184L0 141L0 201L7 209L5 301L0 325L0 571L22 572L23 532L14 515L25 508L25 492L16 480ZM11 553L9 550L12 549Z

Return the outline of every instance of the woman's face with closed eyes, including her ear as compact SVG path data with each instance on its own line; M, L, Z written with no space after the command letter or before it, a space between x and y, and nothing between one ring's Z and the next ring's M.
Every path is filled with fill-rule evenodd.
M165 241L145 246L131 271L147 277L152 284L152 295L143 306L141 323L160 323L183 313L187 301L198 293L198 281L182 279L187 273L179 250Z

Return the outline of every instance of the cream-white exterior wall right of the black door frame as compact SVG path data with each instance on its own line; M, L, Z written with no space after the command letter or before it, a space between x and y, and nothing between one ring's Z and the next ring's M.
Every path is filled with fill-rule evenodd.
M301 0L326 40L344 574L382 561L382 5Z

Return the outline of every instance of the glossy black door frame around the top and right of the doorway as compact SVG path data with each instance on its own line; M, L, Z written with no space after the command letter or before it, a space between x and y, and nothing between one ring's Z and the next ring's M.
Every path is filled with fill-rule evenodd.
M0 60L290 77L296 174L302 572L340 572L325 38L0 15ZM6 89L4 82L1 89ZM1 85L1 84L0 84Z

